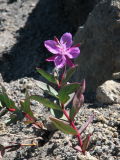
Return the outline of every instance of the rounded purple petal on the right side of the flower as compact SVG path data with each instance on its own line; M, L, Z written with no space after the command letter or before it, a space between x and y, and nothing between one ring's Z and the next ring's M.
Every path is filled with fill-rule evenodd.
M68 52L67 52L67 56L69 57L69 58L76 58L76 57L78 57L79 56L79 54L80 54L80 49L78 48L78 47L71 47L69 50L68 50Z

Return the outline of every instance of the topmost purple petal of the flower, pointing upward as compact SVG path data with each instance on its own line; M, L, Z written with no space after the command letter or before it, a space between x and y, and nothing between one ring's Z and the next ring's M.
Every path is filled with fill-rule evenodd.
M66 48L70 48L72 45L72 35L71 33L64 33L60 39L61 45L64 44Z

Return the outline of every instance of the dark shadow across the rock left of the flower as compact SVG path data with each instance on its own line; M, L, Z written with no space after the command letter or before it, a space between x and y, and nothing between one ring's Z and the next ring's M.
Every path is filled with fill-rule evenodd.
M17 43L0 61L4 81L36 75L36 67L46 67L48 57L43 42L64 32L74 32L63 12L61 1L40 0L29 15L24 28L17 32ZM28 8L29 9L29 8Z

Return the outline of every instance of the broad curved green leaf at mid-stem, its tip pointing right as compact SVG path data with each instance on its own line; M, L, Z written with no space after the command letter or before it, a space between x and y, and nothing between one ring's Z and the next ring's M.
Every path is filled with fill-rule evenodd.
M70 98L69 94L77 91L79 87L79 83L71 83L64 85L58 92L58 97L61 103L65 104Z

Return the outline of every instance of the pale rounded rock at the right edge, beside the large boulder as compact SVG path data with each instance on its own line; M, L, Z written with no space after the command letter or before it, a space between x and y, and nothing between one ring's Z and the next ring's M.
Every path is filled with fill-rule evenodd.
M120 83L106 81L97 88L96 99L105 104L120 103Z

